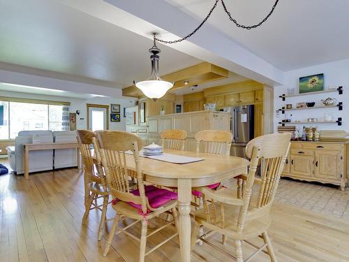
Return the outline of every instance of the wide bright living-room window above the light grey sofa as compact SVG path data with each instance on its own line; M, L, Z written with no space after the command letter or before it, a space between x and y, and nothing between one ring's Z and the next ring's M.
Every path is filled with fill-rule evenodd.
M66 105L0 101L3 105L3 125L0 140L15 139L22 130L66 130Z

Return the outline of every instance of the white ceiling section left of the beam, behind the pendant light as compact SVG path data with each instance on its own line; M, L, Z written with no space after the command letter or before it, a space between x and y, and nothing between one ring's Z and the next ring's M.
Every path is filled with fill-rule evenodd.
M0 0L0 64L122 88L149 77L152 42L52 0ZM160 73L201 61L159 45ZM25 69L25 68L24 68ZM23 68L21 68L21 71ZM36 73L34 71L34 73Z

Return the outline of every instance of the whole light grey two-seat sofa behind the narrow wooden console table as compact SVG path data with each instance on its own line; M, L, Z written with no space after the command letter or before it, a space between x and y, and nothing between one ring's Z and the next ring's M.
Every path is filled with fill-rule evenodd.
M24 173L25 143L62 143L75 142L75 131L20 131L15 138L15 146L7 147L10 168L17 175ZM77 150L38 150L29 151L29 173L57 168L77 166Z

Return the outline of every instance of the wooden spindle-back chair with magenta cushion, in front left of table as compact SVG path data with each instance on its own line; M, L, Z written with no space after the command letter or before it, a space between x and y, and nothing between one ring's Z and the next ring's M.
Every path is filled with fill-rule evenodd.
M150 254L178 235L176 231L169 238L146 252L147 238L150 235L172 224L175 224L177 227L177 193L154 186L144 186L139 154L142 140L138 136L124 131L98 131L96 133L107 186L110 188L114 198L112 208L117 212L110 230L110 235L107 237L103 256L107 255L115 231L119 229L117 234L125 233L131 238L140 241L139 261L143 262L144 256L147 256L147 254ZM126 153L130 150L133 155ZM131 175L129 170L131 169L135 170L138 182L138 189L133 191L128 187L128 180ZM147 234L147 221L168 211L172 212L173 221ZM135 221L128 224L128 226L124 226L124 228L119 227L118 223L126 218L135 219ZM127 231L128 228L138 222L142 224L140 238Z

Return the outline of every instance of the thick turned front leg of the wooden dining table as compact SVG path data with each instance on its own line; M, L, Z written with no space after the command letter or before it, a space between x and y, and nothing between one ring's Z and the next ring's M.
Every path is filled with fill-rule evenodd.
M191 261L191 180L178 180L179 246L181 262Z

